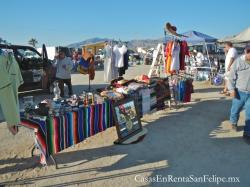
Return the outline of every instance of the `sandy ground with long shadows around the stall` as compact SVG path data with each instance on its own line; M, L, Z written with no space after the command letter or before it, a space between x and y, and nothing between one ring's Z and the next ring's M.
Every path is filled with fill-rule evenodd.
M130 68L127 78L147 74L149 66ZM72 76L74 92L79 93L86 76ZM103 72L96 73L95 87L103 86ZM108 129L55 156L52 164L38 167L31 157L32 133L21 128L12 136L0 124L0 184L31 186L215 186L216 183L160 183L143 177L239 177L240 183L219 186L250 186L250 146L242 131L228 127L230 98L218 94L220 88L195 83L192 102L179 109L163 110L145 116L145 139L133 145L114 145L115 128ZM36 96L36 101L47 97ZM240 125L244 124L244 115ZM137 177L138 182L135 180Z

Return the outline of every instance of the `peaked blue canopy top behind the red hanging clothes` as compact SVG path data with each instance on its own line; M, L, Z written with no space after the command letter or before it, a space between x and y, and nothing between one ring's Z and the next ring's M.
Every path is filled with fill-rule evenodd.
M204 42L213 43L217 41L216 38L197 31L188 31L182 33L182 35L187 36L187 37L182 37L182 39L187 41L188 44L199 44Z

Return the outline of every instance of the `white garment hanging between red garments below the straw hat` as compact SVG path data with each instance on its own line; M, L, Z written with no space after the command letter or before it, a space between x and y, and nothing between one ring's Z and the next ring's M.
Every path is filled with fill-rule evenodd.
M179 71L180 70L180 44L174 42L172 46L172 62L170 66L170 71Z

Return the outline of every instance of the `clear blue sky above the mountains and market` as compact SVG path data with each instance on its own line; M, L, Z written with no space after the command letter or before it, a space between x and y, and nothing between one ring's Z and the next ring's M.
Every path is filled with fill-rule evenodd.
M216 38L250 26L249 0L4 0L0 7L0 37L22 45L158 39L167 22Z

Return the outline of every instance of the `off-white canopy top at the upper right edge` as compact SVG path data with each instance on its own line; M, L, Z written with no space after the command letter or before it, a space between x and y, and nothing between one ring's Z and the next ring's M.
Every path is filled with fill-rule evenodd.
M247 29L243 30L237 35L234 36L227 36L225 38L222 38L218 40L218 42L223 43L223 42L233 42L233 43L245 43L245 42L250 42L250 27Z

